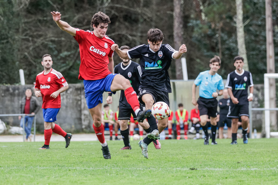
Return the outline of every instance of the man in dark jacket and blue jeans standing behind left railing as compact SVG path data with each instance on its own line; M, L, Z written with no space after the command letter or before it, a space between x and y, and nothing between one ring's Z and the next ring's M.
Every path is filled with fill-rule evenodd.
M20 113L21 114L32 114L29 116L25 116L24 118L19 116L18 119L20 120L20 126L25 128L26 132L26 139L25 141L32 141L33 135L31 134L32 123L34 120L34 116L40 110L40 103L36 97L32 96L32 90L26 89L25 96L21 99L20 102ZM27 125L26 125L27 123Z

